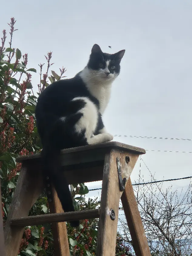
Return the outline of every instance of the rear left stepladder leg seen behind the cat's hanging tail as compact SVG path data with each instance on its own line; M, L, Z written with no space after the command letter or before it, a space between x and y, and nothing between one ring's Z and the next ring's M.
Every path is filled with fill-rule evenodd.
M56 190L54 187L51 188L52 191L52 201L49 202L49 211L50 213L62 213L62 205L57 196ZM69 242L67 236L67 227L65 222L53 222L51 224L53 232L53 241L55 255L57 256L69 256Z

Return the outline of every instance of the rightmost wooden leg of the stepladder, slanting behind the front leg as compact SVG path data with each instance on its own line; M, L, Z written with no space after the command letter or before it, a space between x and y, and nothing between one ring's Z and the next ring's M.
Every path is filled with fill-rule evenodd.
M136 256L151 256L130 178L121 196L121 202Z

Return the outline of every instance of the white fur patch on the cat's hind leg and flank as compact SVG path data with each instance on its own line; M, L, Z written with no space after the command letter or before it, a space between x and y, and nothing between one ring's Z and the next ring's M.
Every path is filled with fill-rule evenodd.
M93 135L96 130L97 122L98 122L98 111L95 104L90 101L86 97L76 97L72 99L73 101L77 99L82 99L86 105L84 108L80 109L77 113L82 113L83 116L79 119L79 121L75 124L75 130L77 133L81 133L84 129L85 137L87 141Z

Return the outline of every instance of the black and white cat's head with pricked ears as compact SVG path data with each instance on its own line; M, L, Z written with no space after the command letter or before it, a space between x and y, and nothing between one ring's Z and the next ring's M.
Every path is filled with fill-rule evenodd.
M93 45L87 64L92 79L101 82L114 80L120 73L120 62L124 53L125 50L114 54L105 53L99 45Z

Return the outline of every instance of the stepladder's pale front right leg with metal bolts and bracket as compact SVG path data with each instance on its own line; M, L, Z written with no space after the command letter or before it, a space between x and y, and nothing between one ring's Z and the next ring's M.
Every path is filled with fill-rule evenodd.
M127 164L125 161L125 158L128 155L130 156L131 164ZM119 157L121 171L127 177L133 170L139 154L133 155L132 157L129 152L123 152L114 149L106 154L103 170L100 219L97 237L97 256L115 255L119 200L122 195L119 187L116 157ZM110 209L115 211L115 220L111 220L110 218Z

